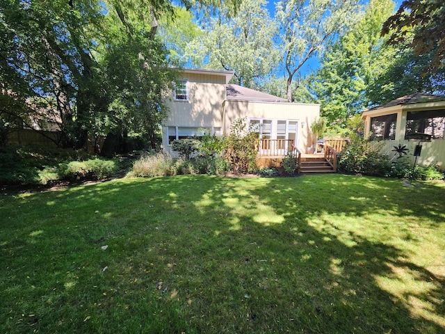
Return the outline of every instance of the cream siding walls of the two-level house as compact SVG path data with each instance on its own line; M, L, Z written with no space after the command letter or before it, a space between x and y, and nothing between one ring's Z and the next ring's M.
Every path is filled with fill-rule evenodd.
M173 129L179 133L196 131L197 128L213 129L220 134L229 134L232 122L237 118L257 118L273 120L272 138L277 136L278 120L288 121L288 126L296 126L293 137L298 141L302 152L311 146L309 125L319 116L318 104L291 104L284 102L248 102L226 100L226 73L205 70L185 71L180 79L187 80L187 101L175 101L173 95L168 100L168 118L163 122L163 148L170 151L168 136ZM293 124L289 125L289 121ZM296 125L295 125L296 124ZM295 131L295 130L293 130ZM290 133L290 132L289 132Z

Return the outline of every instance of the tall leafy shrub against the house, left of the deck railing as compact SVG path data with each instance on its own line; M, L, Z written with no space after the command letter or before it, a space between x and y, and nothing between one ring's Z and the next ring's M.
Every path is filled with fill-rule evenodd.
M225 160L234 173L257 172L258 133L250 125L248 128L246 118L237 118L232 122L230 134L227 137Z

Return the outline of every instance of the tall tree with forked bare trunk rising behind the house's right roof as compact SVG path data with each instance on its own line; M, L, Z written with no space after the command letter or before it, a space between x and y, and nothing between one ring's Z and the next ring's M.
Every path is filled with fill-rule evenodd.
M279 45L286 72L287 100L293 100L293 78L301 67L353 22L355 0L281 0L275 5Z

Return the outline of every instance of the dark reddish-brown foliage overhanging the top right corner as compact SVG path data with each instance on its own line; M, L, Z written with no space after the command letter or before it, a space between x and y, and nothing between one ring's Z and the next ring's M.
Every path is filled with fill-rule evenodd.
M410 36L411 28L414 35ZM445 63L445 3L438 0L405 0L382 26L388 45L408 42L414 55L430 54L425 72L435 72Z

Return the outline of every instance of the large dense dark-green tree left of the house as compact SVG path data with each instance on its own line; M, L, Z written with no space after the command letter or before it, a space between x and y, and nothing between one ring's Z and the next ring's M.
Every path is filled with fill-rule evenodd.
M2 88L22 105L52 97L63 145L106 136L108 155L117 138L137 133L154 146L173 73L156 31L172 8L170 0L0 0Z

